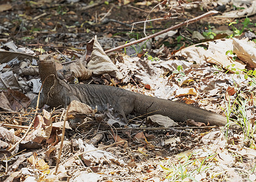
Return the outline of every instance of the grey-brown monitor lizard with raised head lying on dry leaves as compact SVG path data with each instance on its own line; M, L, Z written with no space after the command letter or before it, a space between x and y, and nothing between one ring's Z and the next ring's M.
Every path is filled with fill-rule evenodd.
M134 111L142 115L147 113L165 115L179 122L191 119L216 126L224 126L227 123L224 116L188 104L154 98L111 86L66 84L58 78L54 59L49 57L40 61L39 72L43 82L39 107L43 104L48 104L50 107L66 107L71 101L77 100L93 108L97 106L99 112L106 110L107 104L110 104L124 118ZM30 107L35 107L36 103L37 99L34 99Z

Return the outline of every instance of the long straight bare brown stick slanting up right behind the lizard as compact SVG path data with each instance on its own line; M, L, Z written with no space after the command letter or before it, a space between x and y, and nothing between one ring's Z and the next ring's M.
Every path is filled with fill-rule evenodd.
M137 41L132 41L132 42L129 42L127 44L115 47L113 49L106 50L105 53L110 53L110 52L113 52L113 51L116 51L116 50L119 50L119 49L123 49L123 48L128 47L128 46L133 45L133 44L138 44L140 42L143 42L143 41L146 41L148 39L154 38L155 36L158 36L158 35L161 35L163 33L169 32L170 30L178 29L179 27L182 27L184 25L188 25L188 24L190 24L192 22L199 21L202 18L205 18L205 17L210 16L210 15L214 15L216 13L218 13L218 12L217 11L210 11L210 12L204 13L203 15L197 16L196 18L189 19L189 20L187 20L185 22L182 22L180 24L177 24L177 25L174 25L172 27L169 27L168 29L165 29L165 30L162 30L160 32L154 33L152 35L146 36L144 38L138 39Z

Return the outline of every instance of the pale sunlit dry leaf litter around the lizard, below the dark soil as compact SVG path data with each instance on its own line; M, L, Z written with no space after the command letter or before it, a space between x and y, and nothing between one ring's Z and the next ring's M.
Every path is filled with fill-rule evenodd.
M236 99L240 96L245 100L251 99L247 102L249 107L245 110L245 115L251 121L247 123L249 125L247 130L255 130L253 107L255 96L252 84L254 80L253 77L246 79L244 72L241 72L245 67L255 68L253 42L235 38L204 42L199 45L202 47L206 45L206 50L193 45L176 52L172 58L170 55L165 55L168 59L157 61L149 61L146 56L131 58L123 53L110 59L103 52L101 45L95 42L96 45L93 44L95 47L91 52L92 58L89 61L83 58L84 53L74 51L82 58L81 62L74 62L77 68L60 67L59 73L63 74L63 79L70 76L65 75L65 70L69 70L72 78L80 78L80 80L90 78L87 83L105 83L145 95L193 103L229 116L229 106L236 106L243 111L240 101ZM241 44L243 46L239 46ZM227 45L233 45L234 49ZM31 54L32 51L28 50L27 48L26 54ZM230 55L226 55L227 50L236 52L240 61L233 61ZM68 120L73 124L71 124L72 129L65 126L68 130L61 151L61 163L55 174L63 120L67 111L42 110L43 113L35 116L33 112L26 112L24 108L27 106L27 96L21 94L21 90L22 92L33 90L34 93L39 91L32 88L31 83L29 84L28 81L32 77L27 79L24 74L19 75L15 72L15 67L18 67L20 61L29 62L26 67L33 67L34 61L30 58L34 58L34 55L24 57L23 53L20 58L16 50L15 52L4 50L0 52L1 56L5 57L6 52L11 56L0 65L1 88L4 90L10 88L13 92L7 92L9 95L5 94L5 91L1 92L0 118L3 122L0 133L1 149L4 150L1 150L0 169L1 178L5 181L13 181L17 178L21 181L57 181L68 178L71 181L85 178L91 181L242 181L244 179L255 181L255 134L248 137L244 135L246 130L244 133L233 133L232 130L222 130L222 128L212 130L208 130L207 127L197 130L190 127L170 128L165 122L158 123L151 119L151 123L134 116L130 116L133 120L130 120L129 127L120 129L119 126L122 124L118 116L115 116L115 112L99 114L96 110L84 110L84 106L80 106L79 103L67 114ZM65 54L52 51L49 53L52 53L57 61L62 62L62 59L70 61ZM13 61L16 58L21 60ZM102 59L107 62L108 69L102 67ZM217 66L212 67L209 63ZM230 64L231 67L228 67ZM227 73L227 70L221 67L230 72ZM100 69L96 70L98 68ZM82 76L78 75L81 72L76 71L77 69L82 70ZM94 75L91 76L90 72ZM37 73L34 76L33 79L37 80ZM123 77L121 83L118 81L120 76ZM37 82L32 83L34 86ZM40 86L37 85L38 87ZM111 110L111 106L109 108ZM223 109L227 112L223 112ZM233 115L242 117L238 113ZM110 117L115 122L107 122ZM53 121L57 123L55 126ZM26 125L29 122L34 122L34 125L26 134L29 129ZM160 129L156 123L165 129ZM193 122L190 123L192 124ZM200 124L194 123L194 126ZM4 127L12 129L7 130ZM158 130L150 130L157 127ZM96 139L94 144L98 146L96 148L89 143L93 142L93 136L97 136L98 133L102 133L103 137ZM20 141L23 136L26 138ZM9 150L17 143L13 150ZM23 149L35 150L32 153Z

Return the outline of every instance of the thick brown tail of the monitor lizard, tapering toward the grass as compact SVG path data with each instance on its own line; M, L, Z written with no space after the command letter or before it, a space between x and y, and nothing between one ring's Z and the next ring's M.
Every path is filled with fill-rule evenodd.
M140 114L168 116L174 121L194 120L205 124L225 126L227 118L205 109L190 106L176 101L154 98L146 95L135 96L135 112Z

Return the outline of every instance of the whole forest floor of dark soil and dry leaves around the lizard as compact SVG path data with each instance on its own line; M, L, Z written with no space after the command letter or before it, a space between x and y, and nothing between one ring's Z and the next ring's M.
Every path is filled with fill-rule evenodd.
M1 181L255 181L256 2L225 3L2 1ZM210 10L219 13L108 53L113 65L101 73L74 73L71 63L87 67L94 47L109 50ZM124 124L110 106L104 113L68 113L62 138L66 109L26 110L41 86L38 56L46 54L67 83L182 101L241 129L194 121L171 126L166 118L136 113Z

